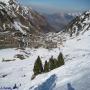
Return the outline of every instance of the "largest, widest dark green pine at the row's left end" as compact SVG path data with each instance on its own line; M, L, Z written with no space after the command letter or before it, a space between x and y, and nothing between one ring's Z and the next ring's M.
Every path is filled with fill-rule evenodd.
M40 57L38 56L35 64L34 64L34 75L38 75L43 72L43 66Z

